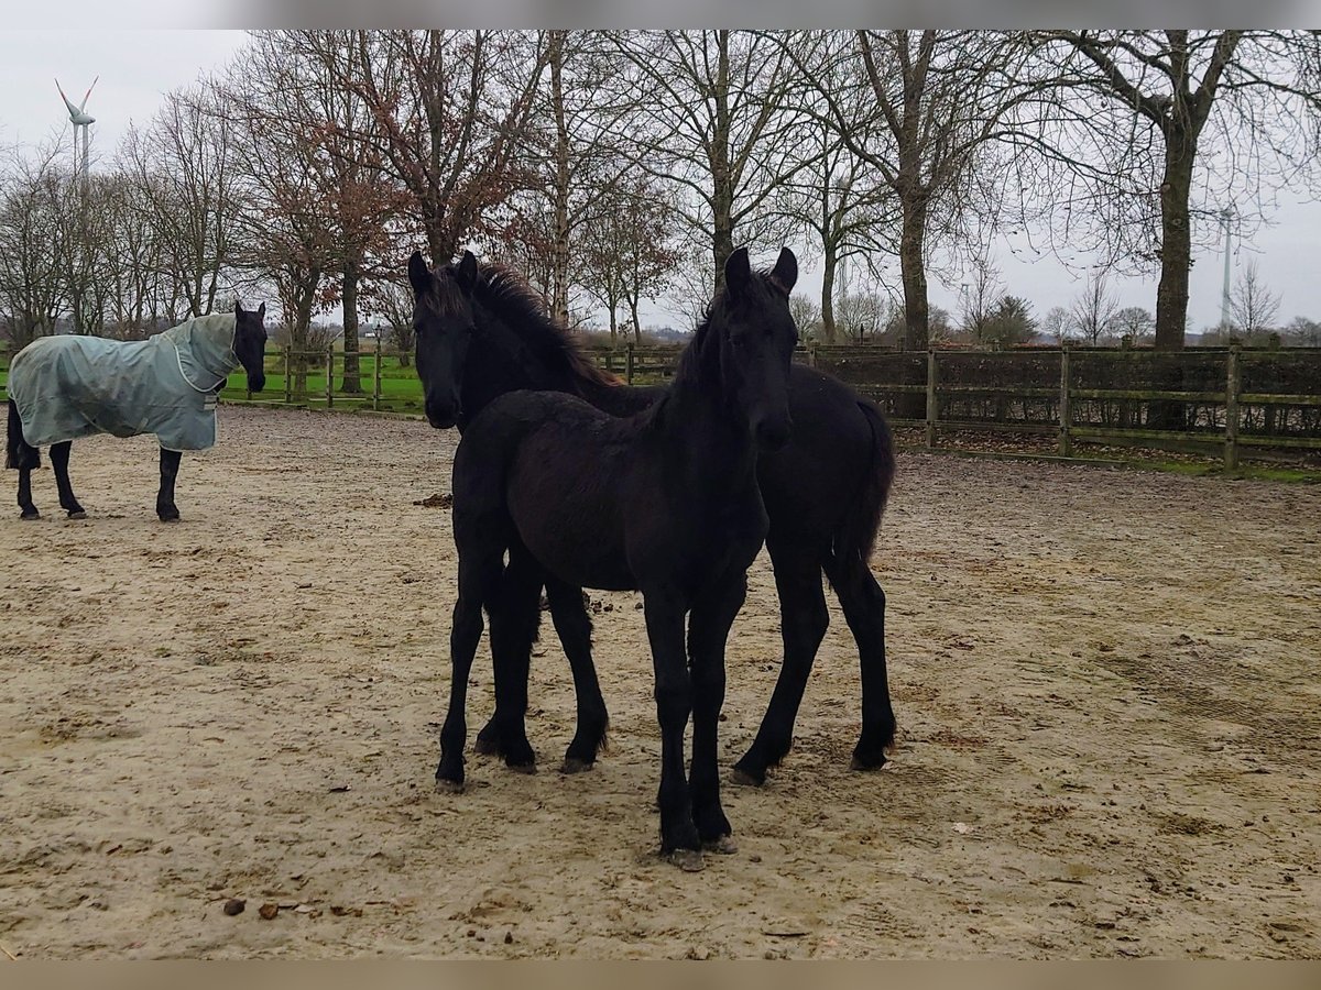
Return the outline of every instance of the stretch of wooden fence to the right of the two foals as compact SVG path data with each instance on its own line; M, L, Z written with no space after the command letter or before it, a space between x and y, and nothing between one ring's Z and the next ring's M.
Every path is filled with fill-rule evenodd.
M1321 450L1321 351L1152 351L1058 347L926 354L808 350L808 360L876 399L897 426L921 426L929 449L955 430L1222 453Z

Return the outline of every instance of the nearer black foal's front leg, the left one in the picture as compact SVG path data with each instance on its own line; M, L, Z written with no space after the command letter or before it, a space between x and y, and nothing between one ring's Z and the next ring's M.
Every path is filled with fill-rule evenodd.
M647 639L655 668L657 719L660 723L660 851L684 870L701 869L701 838L692 820L684 774L683 730L692 711L692 678L683 645L683 599L672 589L643 589Z

